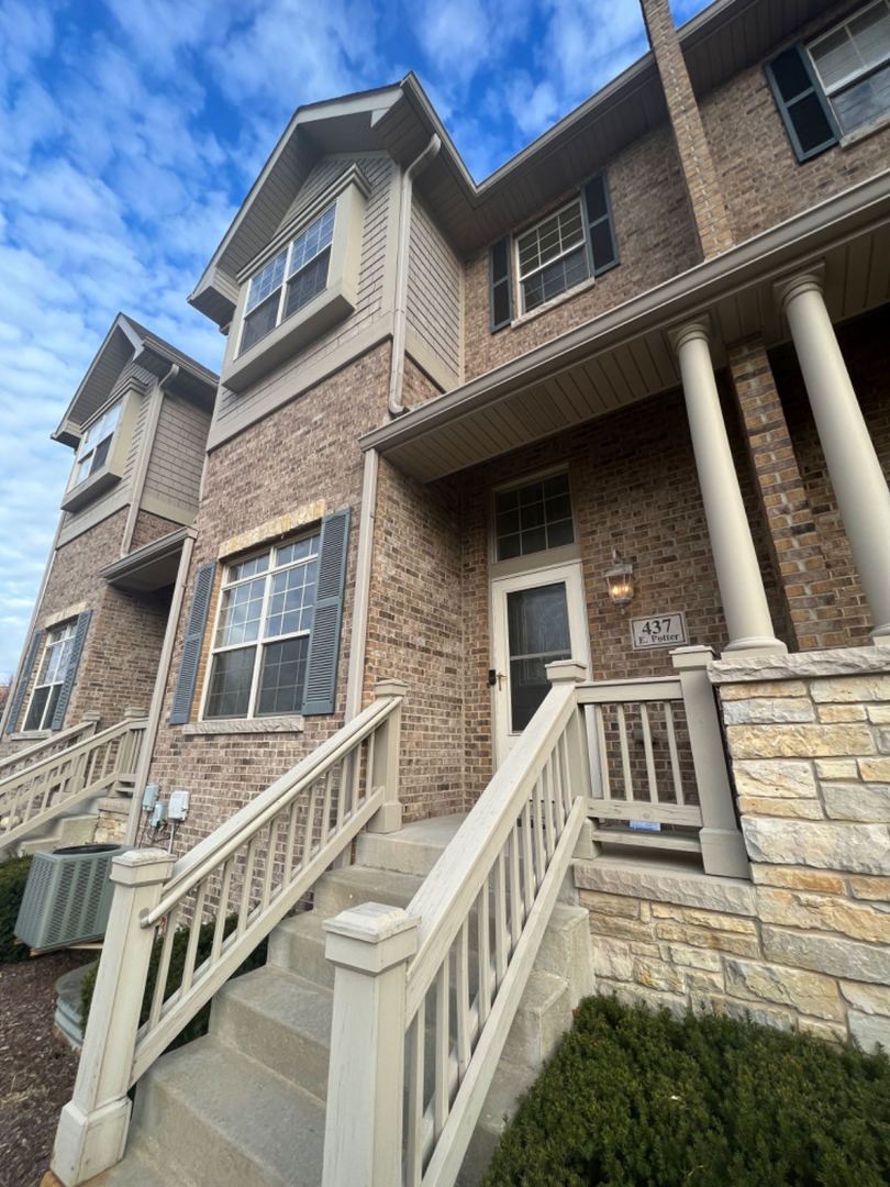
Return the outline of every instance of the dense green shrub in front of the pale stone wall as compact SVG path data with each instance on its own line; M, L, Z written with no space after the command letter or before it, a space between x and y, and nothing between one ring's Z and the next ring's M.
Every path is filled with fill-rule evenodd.
M483 1187L885 1187L890 1060L589 998Z

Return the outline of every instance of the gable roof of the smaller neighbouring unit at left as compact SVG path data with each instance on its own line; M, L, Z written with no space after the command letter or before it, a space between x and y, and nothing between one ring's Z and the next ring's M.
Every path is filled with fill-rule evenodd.
M133 366L148 382L152 376L160 379L166 375L174 363L179 368L177 393L204 407L212 407L218 376L132 317L119 313L52 433L53 440L77 445L84 424L108 401L128 367Z

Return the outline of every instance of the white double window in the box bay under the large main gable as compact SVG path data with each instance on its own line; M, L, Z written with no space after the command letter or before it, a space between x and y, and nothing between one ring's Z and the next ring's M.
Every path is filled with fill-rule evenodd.
M250 280L241 350L259 342L328 286L336 207L310 223Z

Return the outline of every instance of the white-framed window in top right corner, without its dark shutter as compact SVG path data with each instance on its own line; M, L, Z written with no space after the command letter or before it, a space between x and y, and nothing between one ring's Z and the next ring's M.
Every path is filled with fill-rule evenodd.
M843 133L890 110L890 2L863 8L808 45Z

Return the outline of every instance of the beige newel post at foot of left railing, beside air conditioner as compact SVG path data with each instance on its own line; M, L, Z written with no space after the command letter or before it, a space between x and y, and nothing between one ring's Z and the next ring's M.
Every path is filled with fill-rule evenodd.
M173 858L133 850L112 862L114 900L71 1099L62 1110L51 1169L76 1187L123 1157L127 1097L154 928L140 919L160 902Z

